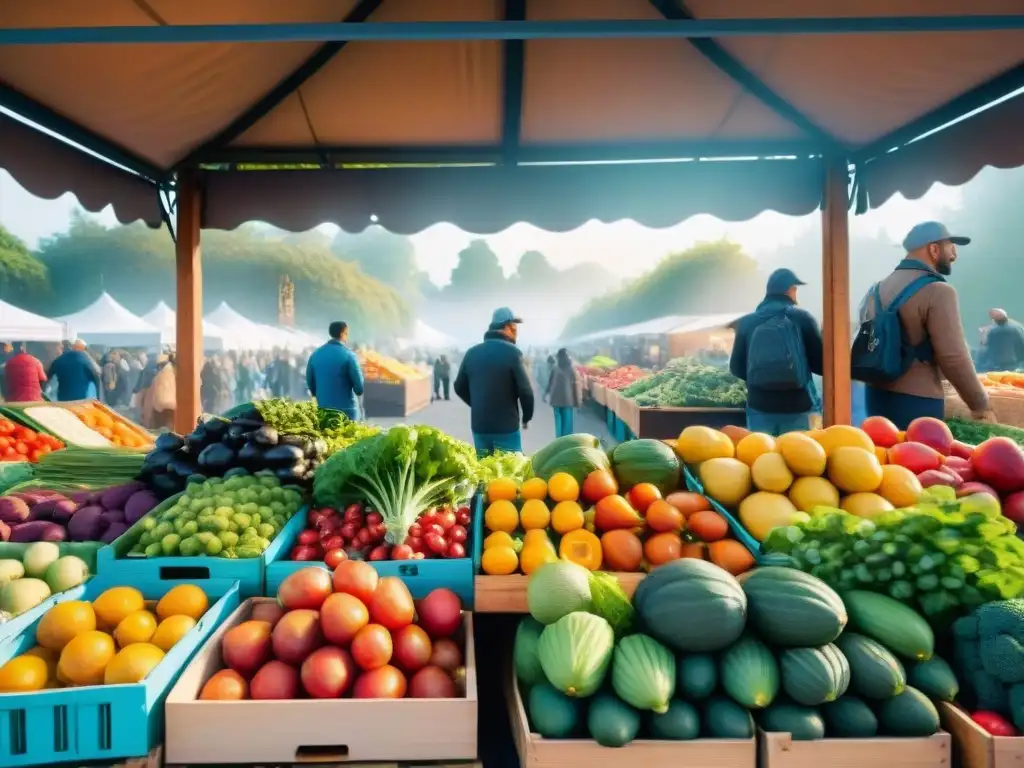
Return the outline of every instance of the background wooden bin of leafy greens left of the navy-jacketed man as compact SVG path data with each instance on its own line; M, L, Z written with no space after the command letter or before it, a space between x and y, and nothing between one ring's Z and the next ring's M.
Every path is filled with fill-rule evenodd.
M631 437L666 439L693 424L722 427L745 421L743 382L688 357L638 379L620 395L615 413Z

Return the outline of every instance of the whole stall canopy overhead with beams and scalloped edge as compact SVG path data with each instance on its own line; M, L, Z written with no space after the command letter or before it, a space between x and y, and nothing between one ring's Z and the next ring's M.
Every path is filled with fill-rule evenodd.
M957 127L970 152L944 132L909 144L1024 87L1020 14L1020 0L9 2L0 105L128 170L71 162L4 116L0 167L154 225L169 218L158 189L199 167L203 223L223 228L804 214L822 156L856 163L877 206L1024 164L1019 95ZM737 157L761 160L706 162Z

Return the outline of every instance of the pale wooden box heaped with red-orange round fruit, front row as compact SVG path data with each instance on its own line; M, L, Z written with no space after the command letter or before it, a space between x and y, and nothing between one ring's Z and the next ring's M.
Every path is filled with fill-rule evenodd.
M473 625L453 592L414 605L399 579L348 560L291 574L276 598L246 601L182 674L168 763L476 759Z

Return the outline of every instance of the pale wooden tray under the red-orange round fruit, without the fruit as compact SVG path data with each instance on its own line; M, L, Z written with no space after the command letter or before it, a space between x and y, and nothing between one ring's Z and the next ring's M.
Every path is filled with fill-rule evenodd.
M473 620L464 612L465 698L200 701L223 668L220 641L252 615L246 600L206 642L167 697L168 764L476 760Z

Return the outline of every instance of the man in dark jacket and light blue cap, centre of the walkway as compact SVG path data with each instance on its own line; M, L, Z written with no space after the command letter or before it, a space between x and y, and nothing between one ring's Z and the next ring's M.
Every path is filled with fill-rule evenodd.
M534 418L534 388L516 346L520 323L508 307L496 309L483 342L466 352L455 379L455 393L469 406L480 456L522 452L520 424L526 429Z

